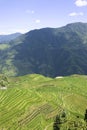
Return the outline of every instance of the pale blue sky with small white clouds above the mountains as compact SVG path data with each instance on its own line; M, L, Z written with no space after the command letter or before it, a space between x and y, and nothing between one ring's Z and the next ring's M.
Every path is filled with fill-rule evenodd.
M87 0L0 0L0 35L87 23Z

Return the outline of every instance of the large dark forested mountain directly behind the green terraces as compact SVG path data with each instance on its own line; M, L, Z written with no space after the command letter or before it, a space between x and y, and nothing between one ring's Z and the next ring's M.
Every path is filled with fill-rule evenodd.
M87 23L32 30L2 46L0 72L7 75L87 74Z

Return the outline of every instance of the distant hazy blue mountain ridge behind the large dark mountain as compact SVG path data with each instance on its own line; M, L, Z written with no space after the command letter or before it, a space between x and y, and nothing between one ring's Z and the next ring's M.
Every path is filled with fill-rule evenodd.
M8 34L8 35L0 35L0 43L2 42L8 42L10 40L13 40L20 36L21 33L13 33L13 34Z

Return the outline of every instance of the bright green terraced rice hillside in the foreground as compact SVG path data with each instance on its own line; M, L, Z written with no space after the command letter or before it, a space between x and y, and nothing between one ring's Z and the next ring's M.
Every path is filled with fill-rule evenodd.
M87 130L86 120L87 76L0 76L0 130Z

